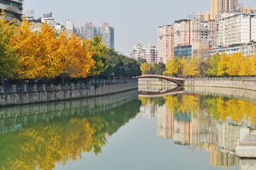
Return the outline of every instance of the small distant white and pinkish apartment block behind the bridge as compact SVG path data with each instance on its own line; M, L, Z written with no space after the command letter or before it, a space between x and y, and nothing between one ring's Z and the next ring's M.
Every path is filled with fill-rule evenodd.
M148 47L141 44L134 46L133 50L130 51L130 58L138 60L139 57L146 59L146 62L152 64L157 61L157 49L156 45L149 45Z

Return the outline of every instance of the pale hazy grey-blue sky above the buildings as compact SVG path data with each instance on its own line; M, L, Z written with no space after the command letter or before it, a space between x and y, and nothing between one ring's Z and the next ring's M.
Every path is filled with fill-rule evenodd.
M255 0L240 0L256 6ZM114 26L114 48L129 56L134 45L156 45L156 29L183 19L187 11L210 11L210 0L25 0L23 8L34 9L35 16L53 13L63 24L72 20L75 27L92 22L93 26Z

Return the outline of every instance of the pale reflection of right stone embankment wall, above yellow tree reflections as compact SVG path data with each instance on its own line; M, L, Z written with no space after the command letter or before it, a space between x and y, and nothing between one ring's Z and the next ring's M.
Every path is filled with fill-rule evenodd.
M210 86L185 86L186 93L238 98L256 104L256 91Z

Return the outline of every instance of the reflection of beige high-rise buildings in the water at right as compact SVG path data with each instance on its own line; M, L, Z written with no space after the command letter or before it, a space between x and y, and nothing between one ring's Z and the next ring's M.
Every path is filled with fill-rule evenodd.
M235 147L246 133L247 128L234 125L228 118L227 123L215 122L206 111L193 114L188 110L175 114L166 104L157 106L157 136L174 140L176 145L197 148L194 151L186 149L190 152L201 153L201 148L205 148L210 152L210 164L213 166L225 169L238 166Z

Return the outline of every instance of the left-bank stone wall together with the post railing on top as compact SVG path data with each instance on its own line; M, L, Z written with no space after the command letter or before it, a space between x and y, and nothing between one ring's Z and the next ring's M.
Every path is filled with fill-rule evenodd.
M100 87L96 88L95 83L100 82ZM89 84L70 84L65 86L23 86L6 88L1 87L0 106L37 103L47 101L61 101L72 98L84 98L88 96L100 96L114 94L138 88L137 79L90 81ZM7 92L8 91L8 92Z

